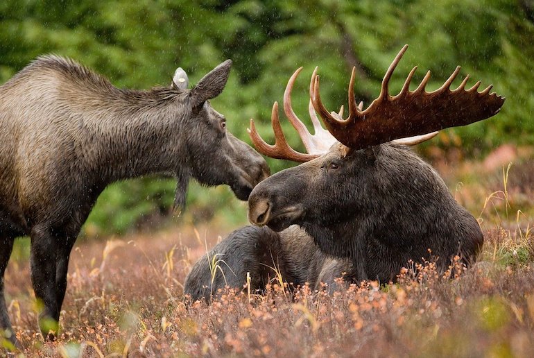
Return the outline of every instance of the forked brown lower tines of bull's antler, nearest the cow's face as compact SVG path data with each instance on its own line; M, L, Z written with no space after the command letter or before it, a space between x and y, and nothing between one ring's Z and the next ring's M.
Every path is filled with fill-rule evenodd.
M271 112L270 120L273 126L273 131L275 133L275 145L270 145L262 139L254 124L254 120L250 119L250 129L248 129L248 134L252 143L257 148L259 153L267 155L268 157L273 157L275 159L285 159L292 160L293 162L308 162L319 155L304 154L295 151L286 141L284 132L282 131L282 126L280 126L280 121L278 119L278 103L273 104L273 111Z

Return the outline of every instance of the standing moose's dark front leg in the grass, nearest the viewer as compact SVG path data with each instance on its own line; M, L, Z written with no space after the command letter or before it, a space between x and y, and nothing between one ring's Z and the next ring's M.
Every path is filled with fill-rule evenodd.
M42 335L54 340L59 327L58 295L55 285L58 238L49 227L34 227L31 232L31 280L38 305Z

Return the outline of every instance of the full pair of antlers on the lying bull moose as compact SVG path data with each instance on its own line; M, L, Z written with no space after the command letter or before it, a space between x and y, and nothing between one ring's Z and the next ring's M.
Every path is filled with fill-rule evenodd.
M363 102L356 105L354 98L355 69L352 69L349 85L349 116L343 119L343 105L339 112L328 112L322 105L319 93L318 68L311 75L309 93L309 114L315 130L311 135L306 126L291 108L291 90L302 67L297 69L288 81L284 92L284 112L293 127L297 130L307 149L308 154L295 151L286 141L278 118L278 103L273 105L271 121L275 133L275 145L267 144L257 133L254 121L250 119L248 133L257 150L275 159L307 162L326 153L328 148L336 141L350 148L359 149L369 146L393 142L397 144L415 145L424 142L438 134L438 130L454 126L481 121L497 114L504 103L504 98L489 93L492 85L477 92L480 81L470 89L465 90L469 79L467 75L460 86L454 90L449 87L460 71L456 67L447 81L434 92L426 92L425 85L430 78L430 71L424 76L421 84L415 91L409 90L411 78L417 69L415 66L408 74L402 90L397 96L388 94L388 83L408 49L405 45L393 60L384 80L381 92L371 105L363 110ZM325 130L320 125L316 111L327 126ZM427 134L424 134L427 133Z

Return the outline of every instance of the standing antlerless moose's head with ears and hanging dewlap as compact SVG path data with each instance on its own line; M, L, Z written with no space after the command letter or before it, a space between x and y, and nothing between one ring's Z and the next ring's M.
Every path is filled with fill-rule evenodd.
M184 204L189 174L204 185L230 185L241 200L247 200L252 188L269 175L264 159L248 144L237 139L226 128L226 119L210 105L209 100L223 92L230 74L231 60L226 60L206 74L192 89L188 78L178 68L172 87L182 90L187 112L182 127L184 153L180 157L175 206ZM187 165L183 165L187 162ZM189 169L189 173L184 171Z

